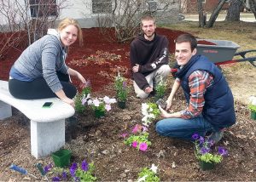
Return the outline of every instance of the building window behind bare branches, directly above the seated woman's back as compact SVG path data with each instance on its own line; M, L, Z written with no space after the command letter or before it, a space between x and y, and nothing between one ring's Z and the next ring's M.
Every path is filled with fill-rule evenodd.
M33 18L58 15L56 0L30 0L29 3Z

